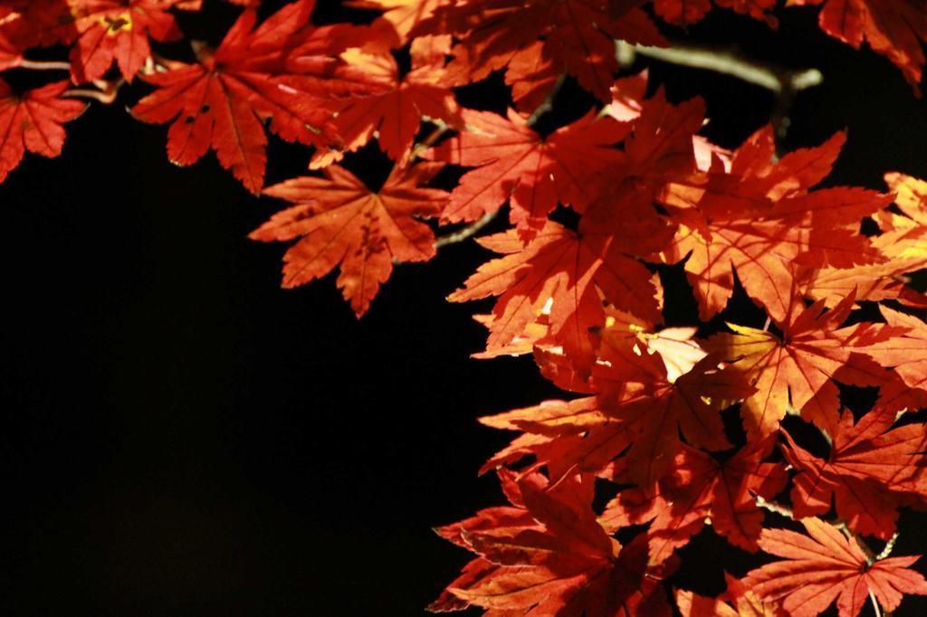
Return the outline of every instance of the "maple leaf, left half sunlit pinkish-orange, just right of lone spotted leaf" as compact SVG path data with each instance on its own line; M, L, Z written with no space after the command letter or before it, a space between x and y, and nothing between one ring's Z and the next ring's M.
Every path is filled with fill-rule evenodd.
M605 172L621 161L616 145L629 127L611 118L586 116L542 138L513 110L508 119L489 111L464 110L466 130L425 157L464 167L442 214L447 222L476 220L511 199L512 221L537 230L563 203L582 212L607 186Z

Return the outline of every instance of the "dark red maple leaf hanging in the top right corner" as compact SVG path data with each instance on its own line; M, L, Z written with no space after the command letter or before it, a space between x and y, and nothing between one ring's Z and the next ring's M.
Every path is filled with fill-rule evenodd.
M888 57L920 95L927 41L927 14L910 0L788 0L786 6L825 3L820 9L821 30L856 49L863 40L877 54Z

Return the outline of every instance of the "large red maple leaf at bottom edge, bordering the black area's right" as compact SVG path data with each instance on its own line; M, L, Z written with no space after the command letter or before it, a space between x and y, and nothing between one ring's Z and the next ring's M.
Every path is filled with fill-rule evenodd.
M589 476L552 489L538 473L517 483L503 473L502 482L513 508L482 510L438 529L439 535L479 557L429 607L431 611L473 605L500 615L672 614L659 584L668 568L648 567L646 543L638 540L622 547L605 533L590 508Z

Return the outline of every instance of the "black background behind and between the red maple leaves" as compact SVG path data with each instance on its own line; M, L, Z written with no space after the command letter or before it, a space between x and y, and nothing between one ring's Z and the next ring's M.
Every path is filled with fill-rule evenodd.
M218 43L235 14L207 3L184 25ZM366 15L323 0L317 20ZM780 16L769 31L717 10L687 35L823 71L788 145L848 127L828 183L927 177L927 105L900 72L827 38L813 10ZM671 100L705 96L722 145L768 120L761 89L650 66ZM499 109L497 86L462 97ZM484 341L470 316L489 305L444 296L488 254L468 243L401 266L362 321L334 276L281 290L285 247L246 236L283 204L211 154L171 166L166 127L124 111L146 92L92 106L62 157L29 155L0 186L3 614L421 614L469 559L430 527L502 499L476 469L511 435L476 416L557 396L530 359L468 358ZM567 86L559 118L588 102ZM268 183L305 170L306 149L271 142ZM348 163L372 183L388 165L375 148ZM694 322L691 302L673 311ZM927 548L925 517L902 520L895 554ZM674 583L706 594L723 585L716 561L751 563L710 531L683 558ZM927 614L920 599L895 614Z

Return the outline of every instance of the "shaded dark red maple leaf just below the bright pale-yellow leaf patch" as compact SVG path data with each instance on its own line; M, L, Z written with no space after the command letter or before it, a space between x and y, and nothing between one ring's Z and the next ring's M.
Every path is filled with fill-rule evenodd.
M624 454L631 482L654 486L673 465L682 447L680 432L694 446L730 448L718 409L748 397L754 388L737 371L717 369L707 357L675 381L658 354L640 352L623 337L603 333L600 357L589 383L570 369L558 383L576 386L594 397L545 401L481 418L489 426L545 437L527 440L484 466L513 462L531 454L546 465L552 481L577 472L600 472ZM548 374L550 376L550 374Z

